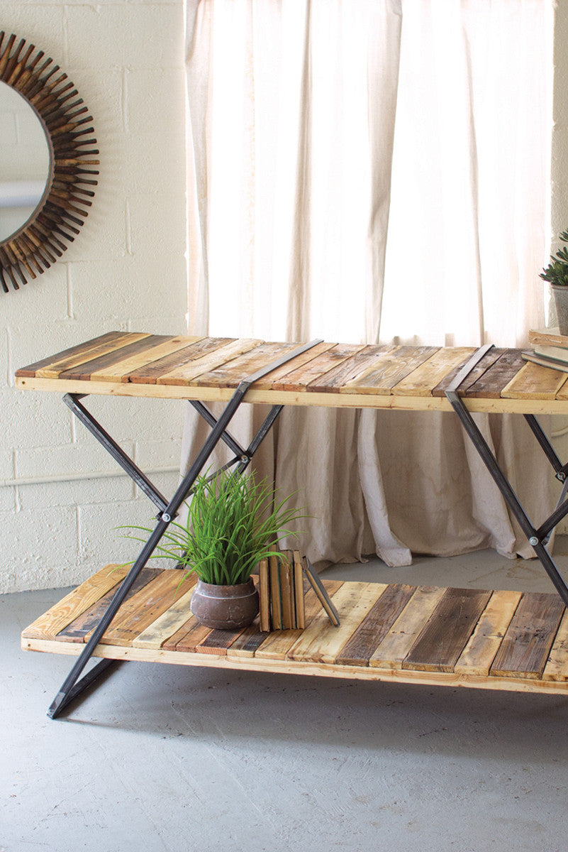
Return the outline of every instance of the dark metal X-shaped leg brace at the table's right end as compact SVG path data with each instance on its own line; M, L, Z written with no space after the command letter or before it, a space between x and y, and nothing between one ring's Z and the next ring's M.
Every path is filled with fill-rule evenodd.
M536 556L541 561L542 567L544 567L545 571L548 573L548 577L552 580L554 588L558 591L559 596L565 602L565 605L568 606L568 585L566 585L565 579L559 573L558 567L546 548L550 538L550 533L552 533L554 527L556 527L559 521L561 521L565 515L568 515L568 499L566 499L566 493L568 492L568 484L566 481L568 464L563 465L559 461L559 458L554 452L553 447L550 445L547 436L542 431L537 418L533 414L525 414L525 420L531 427L532 433L537 438L538 443L542 446L542 450L545 452L548 461L552 464L557 479L564 483L558 504L552 515L550 515L550 517L544 521L540 527L534 527L529 520L528 515L526 515L525 509L523 509L520 504L519 498L514 493L507 477L503 474L503 470L499 467L495 454L491 451L491 448L481 434L477 423L475 423L474 418L465 406L463 398L457 391L463 380L468 377L469 373L474 369L474 366L486 354L487 350L491 348L491 345L492 344L488 344L478 349L472 355L468 363L457 373L457 376L446 389L446 397L452 405L453 410L460 418L463 429L465 429L469 438L472 440L475 449L479 453L483 463L485 463L486 468L497 484L499 491L503 494L503 498L508 504L509 509L511 509L514 517L519 522L520 528L523 533L525 533L526 538L529 540L529 544L531 544Z

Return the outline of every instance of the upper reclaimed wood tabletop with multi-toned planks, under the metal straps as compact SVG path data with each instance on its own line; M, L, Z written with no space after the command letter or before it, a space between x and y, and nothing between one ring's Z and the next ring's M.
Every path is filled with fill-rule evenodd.
M16 371L16 387L75 394L229 400L298 343L111 331ZM445 390L474 347L317 343L253 383L271 405L450 411ZM458 393L474 412L568 413L568 373L491 348Z

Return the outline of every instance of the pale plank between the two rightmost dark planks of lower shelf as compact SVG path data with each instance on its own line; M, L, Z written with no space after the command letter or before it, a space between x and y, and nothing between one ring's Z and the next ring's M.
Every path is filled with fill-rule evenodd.
M508 625L519 606L522 592L494 591L477 626L463 648L454 671L460 675L489 675Z

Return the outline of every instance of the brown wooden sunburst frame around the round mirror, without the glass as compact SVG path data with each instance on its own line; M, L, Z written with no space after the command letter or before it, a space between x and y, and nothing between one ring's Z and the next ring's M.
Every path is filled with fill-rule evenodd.
M97 144L90 124L93 118L77 89L60 66L26 39L14 48L16 37L0 32L0 81L18 91L43 125L50 153L49 176L42 199L30 218L7 239L0 241L0 285L37 278L67 249L79 233L94 197L99 171Z

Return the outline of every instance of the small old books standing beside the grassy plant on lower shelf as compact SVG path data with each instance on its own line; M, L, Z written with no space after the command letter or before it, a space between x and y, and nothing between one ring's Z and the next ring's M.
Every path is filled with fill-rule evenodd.
M315 591L333 625L339 616L321 579L307 556L299 550L282 550L282 558L270 556L258 564L260 630L304 630L304 576Z

